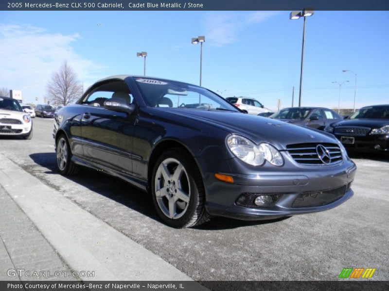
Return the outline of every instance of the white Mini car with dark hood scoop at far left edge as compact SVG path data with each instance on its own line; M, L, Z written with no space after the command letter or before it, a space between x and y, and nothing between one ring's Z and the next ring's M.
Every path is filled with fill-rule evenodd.
M0 135L17 135L25 139L33 137L31 117L16 99L0 97Z

